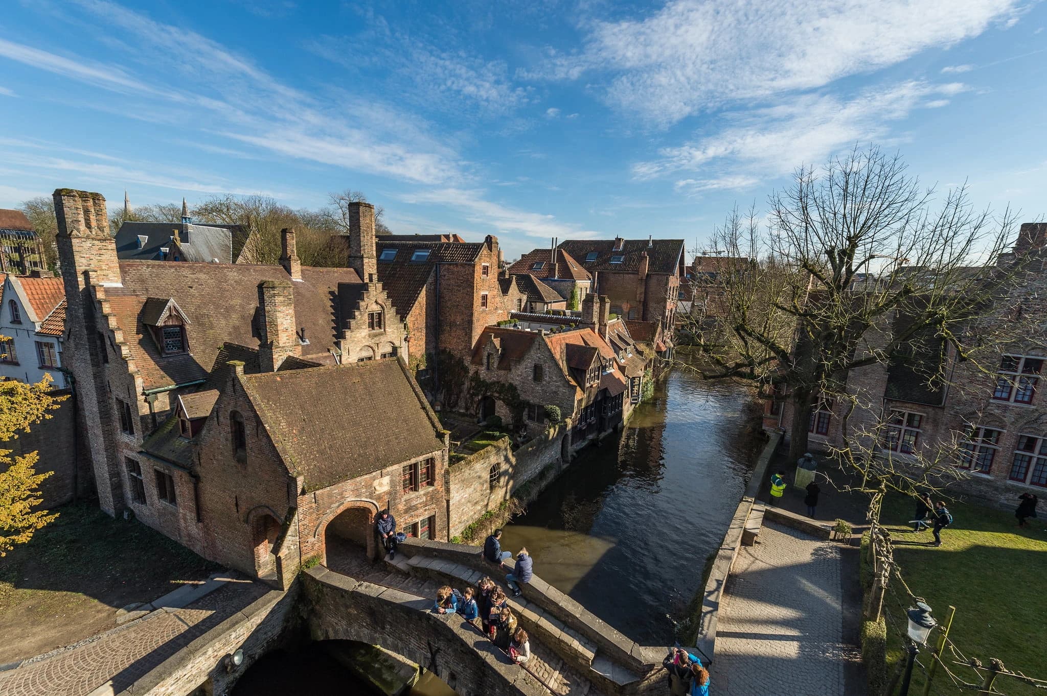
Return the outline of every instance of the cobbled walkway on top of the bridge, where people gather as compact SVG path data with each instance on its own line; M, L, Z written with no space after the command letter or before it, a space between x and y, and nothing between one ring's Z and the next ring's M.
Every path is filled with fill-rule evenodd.
M351 544L332 552L328 549L328 567L376 585L393 587L417 597L436 597L440 583L391 571L383 563L370 564L358 548ZM477 630L476 635L481 635ZM552 649L530 639L531 659L527 669L557 696L602 696L592 682L564 663ZM499 651L500 652L500 651ZM504 654L504 653L503 653ZM509 657L505 657L509 663Z

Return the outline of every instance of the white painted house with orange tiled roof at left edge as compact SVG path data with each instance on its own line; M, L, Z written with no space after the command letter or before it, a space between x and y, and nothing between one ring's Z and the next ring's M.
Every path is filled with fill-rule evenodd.
M62 366L65 286L46 272L7 274L0 305L0 377L25 382L51 375L55 389L68 387Z

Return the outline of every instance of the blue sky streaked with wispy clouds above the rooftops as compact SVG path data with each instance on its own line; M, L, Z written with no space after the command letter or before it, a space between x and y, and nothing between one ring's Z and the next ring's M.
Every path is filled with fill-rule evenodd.
M353 188L397 232L700 246L801 163L897 148L1047 212L1035 0L25 0L0 20L0 207Z

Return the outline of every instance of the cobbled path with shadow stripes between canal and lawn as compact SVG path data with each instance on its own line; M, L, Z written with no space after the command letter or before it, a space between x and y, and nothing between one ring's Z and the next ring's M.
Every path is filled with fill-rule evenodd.
M720 608L711 691L717 696L859 696L847 676L841 548L763 524L738 553ZM859 691L855 691L855 688Z

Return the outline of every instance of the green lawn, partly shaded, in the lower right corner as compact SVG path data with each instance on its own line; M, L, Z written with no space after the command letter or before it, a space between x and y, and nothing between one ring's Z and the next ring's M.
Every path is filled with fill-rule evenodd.
M955 521L942 531L941 547L935 548L925 544L933 540L930 531L901 531L912 519L910 500L885 504L881 521L897 532L892 533L894 558L906 582L927 599L939 621L948 617L950 605L956 607L949 635L965 656L983 665L998 657L1008 669L1047 679L1047 510L1038 511L1041 518L1030 520L1031 528L1020 530L1011 511L958 503L948 507ZM895 627L905 626L906 618L890 594L884 606L895 619L888 621L887 631L888 665L893 671L895 660L903 658ZM973 670L956 667L956 671L967 681L975 680ZM909 693L922 694L918 668L913 685ZM973 693L951 687L940 669L933 686L932 694ZM994 687L1008 696L1045 693L1008 677L998 678Z

